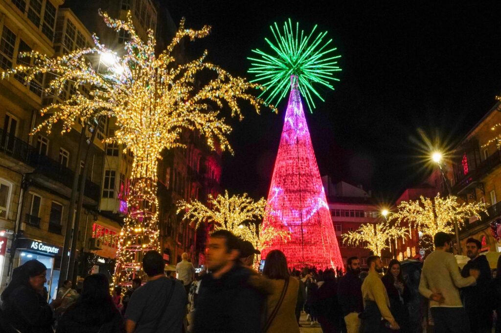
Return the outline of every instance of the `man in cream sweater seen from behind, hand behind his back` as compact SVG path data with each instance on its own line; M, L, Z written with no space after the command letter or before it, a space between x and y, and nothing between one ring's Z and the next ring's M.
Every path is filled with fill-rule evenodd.
M480 272L470 270L470 276L461 277L454 255L450 253L450 235L438 232L433 237L435 251L424 261L419 292L430 300L436 332L469 333L468 316L459 297L459 289L476 282Z

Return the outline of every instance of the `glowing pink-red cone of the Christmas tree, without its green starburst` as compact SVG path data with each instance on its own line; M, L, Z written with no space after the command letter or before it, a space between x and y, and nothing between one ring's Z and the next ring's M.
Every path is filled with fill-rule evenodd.
M262 258L279 249L290 267L344 269L297 83L289 95L266 216L263 228L287 230L292 238L271 241Z

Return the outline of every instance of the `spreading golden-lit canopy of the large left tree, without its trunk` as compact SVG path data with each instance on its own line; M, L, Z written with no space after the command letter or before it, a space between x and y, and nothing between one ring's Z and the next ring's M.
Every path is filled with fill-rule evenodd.
M99 115L115 116L120 130L109 140L125 143L135 156L153 154L140 168L133 168L136 172L133 177L145 177L148 173L145 169L155 167L156 159L164 148L179 146L177 141L182 128L196 128L207 137L211 147L218 141L222 150L231 150L226 139L231 127L220 117L219 110L213 109L208 102L212 101L218 107L226 102L231 108L231 115L242 118L237 103L239 99L247 100L260 111L263 101L246 92L258 86L205 62L207 52L186 64L177 63L171 54L181 39L203 38L208 35L209 27L186 29L184 20L181 21L172 42L157 57L153 31L149 30L147 41L143 42L136 33L130 14L126 21L111 19L106 13L101 15L110 28L129 33L130 40L125 43L123 56L107 49L94 35L95 45L92 48L78 49L54 58L37 52L22 54L33 57L34 66L20 65L4 73L4 77L25 73L26 82L37 75L49 73L50 82L45 89L47 94L59 95L67 83L90 87L89 94L75 89L67 100L44 107L41 112L51 115L36 130L47 127L50 132L53 124L60 120L63 131L66 131L76 121L85 122ZM100 67L104 70L96 69L96 60L92 61L92 56L105 57L105 61L100 60ZM214 72L215 78L196 88L196 74L203 70ZM153 169L155 172L156 169Z

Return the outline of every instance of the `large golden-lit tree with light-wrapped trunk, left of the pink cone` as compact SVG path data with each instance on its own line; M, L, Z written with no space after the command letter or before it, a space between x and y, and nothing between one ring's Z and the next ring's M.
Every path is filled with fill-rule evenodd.
M181 21L172 42L157 56L154 32L149 30L146 41L142 41L130 13L125 21L101 15L108 27L130 36L123 54L106 48L94 35L92 47L66 55L50 58L37 52L22 54L34 59L34 65L18 66L3 77L22 73L29 83L47 74L46 94L60 95L68 84L76 88L68 99L41 110L48 117L35 132L42 128L50 132L58 121L65 132L76 122L87 123L100 116L116 118L119 130L106 141L123 143L134 154L115 272L115 283L127 284L135 274L142 274L143 253L158 250L156 173L162 150L182 147L181 131L196 129L211 148L217 143L222 150L231 151L226 139L231 127L220 109L228 105L231 115L241 119L239 100L248 101L258 112L264 102L247 92L257 85L206 62L207 52L187 63L175 59L172 51L182 39L203 38L209 27L186 29ZM198 80L200 72L207 72L204 81Z

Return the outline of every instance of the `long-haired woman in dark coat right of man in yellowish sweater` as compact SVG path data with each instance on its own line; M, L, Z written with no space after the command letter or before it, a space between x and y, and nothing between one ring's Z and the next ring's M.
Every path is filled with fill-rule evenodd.
M400 262L392 259L386 274L381 278L390 299L390 311L400 326L400 332L408 332L409 313L407 302L410 297L408 287L402 277Z

